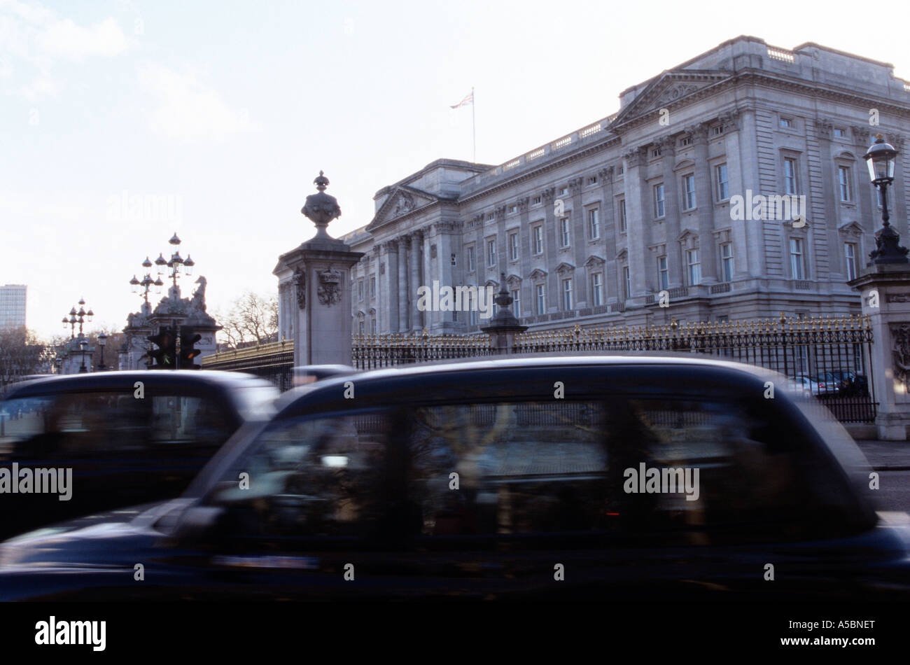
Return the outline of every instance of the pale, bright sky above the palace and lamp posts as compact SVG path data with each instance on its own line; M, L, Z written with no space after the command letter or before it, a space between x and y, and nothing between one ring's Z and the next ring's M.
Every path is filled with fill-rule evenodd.
M82 296L120 328L130 277L177 231L211 312L276 291L278 255L314 235L300 207L320 169L337 237L369 223L379 188L470 159L470 106L450 105L471 86L477 160L501 164L737 35L910 78L901 6L0 0L0 284L28 285L40 335ZM169 205L131 207L156 197Z

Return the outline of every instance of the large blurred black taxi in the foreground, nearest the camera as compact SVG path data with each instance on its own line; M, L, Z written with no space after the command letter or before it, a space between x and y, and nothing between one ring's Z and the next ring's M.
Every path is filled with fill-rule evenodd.
M0 600L905 600L910 539L862 454L769 378L551 357L325 379L183 498L5 542Z

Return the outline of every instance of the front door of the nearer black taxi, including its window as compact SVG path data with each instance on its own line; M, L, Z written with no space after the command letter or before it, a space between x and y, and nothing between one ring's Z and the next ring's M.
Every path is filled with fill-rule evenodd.
M399 506L389 493L388 410L273 421L217 481L220 513L175 593L217 600L388 598Z

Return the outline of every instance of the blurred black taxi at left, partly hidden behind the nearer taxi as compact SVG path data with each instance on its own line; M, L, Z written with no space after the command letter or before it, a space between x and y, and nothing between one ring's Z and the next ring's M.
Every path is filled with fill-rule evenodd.
M0 536L180 496L240 425L274 414L277 396L265 380L210 371L15 384L0 401Z

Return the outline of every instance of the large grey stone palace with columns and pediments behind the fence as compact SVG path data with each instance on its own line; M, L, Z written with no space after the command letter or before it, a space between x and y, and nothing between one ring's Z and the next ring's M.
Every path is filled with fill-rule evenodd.
M343 237L363 253L353 331L476 332L418 291L503 276L531 330L858 314L847 281L882 225L863 155L877 134L900 152L888 207L910 242L908 133L893 65L737 37L504 164L438 159L379 189Z

